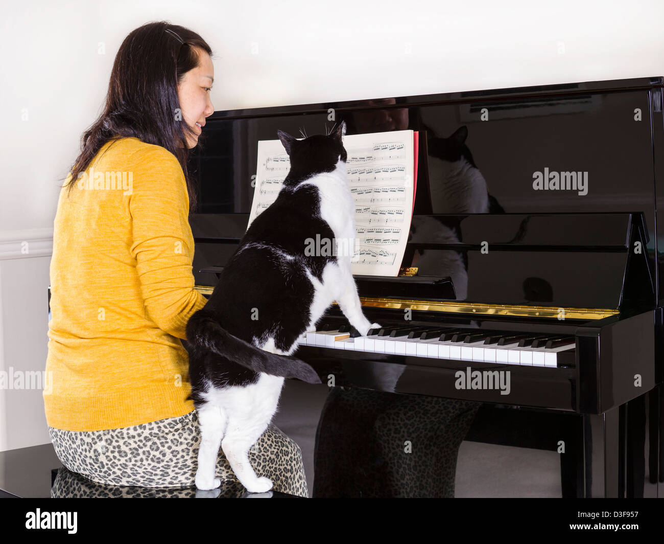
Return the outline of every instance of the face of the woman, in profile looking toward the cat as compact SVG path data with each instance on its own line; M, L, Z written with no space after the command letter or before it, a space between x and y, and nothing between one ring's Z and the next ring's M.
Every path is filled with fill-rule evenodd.
M210 89L214 82L214 66L212 59L203 49L195 48L199 54L199 65L185 73L183 80L177 86L180 98L183 120L193 128L194 132L201 134L205 125L205 118L214 113L214 106L210 100ZM197 123L201 126L197 126ZM189 148L198 143L198 136L187 136Z

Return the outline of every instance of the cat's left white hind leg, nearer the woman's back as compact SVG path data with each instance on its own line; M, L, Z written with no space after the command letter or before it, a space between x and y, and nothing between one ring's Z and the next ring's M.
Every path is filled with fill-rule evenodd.
M219 446L228 418L221 406L206 402L196 409L199 416L201 432L201 448L199 449L199 466L196 471L196 487L199 489L216 489L221 480L214 477L219 455Z

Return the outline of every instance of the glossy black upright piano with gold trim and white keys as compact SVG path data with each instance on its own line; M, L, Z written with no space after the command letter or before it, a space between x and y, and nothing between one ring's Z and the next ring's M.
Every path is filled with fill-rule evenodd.
M347 134L417 130L404 273L356 277L382 329L358 335L333 306L295 355L335 387L483 403L467 440L557 451L563 496L663 497L662 88L215 112L189 165L197 289L211 293L246 230L259 140L341 120Z

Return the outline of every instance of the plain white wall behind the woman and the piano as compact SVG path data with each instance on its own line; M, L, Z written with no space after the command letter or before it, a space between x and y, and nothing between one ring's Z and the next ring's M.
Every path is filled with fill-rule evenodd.
M162 19L212 47L216 110L664 75L661 0L5 2L0 370L44 368L60 179L120 43ZM21 253L26 239L41 251ZM48 442L42 410L35 392L0 390L0 450Z

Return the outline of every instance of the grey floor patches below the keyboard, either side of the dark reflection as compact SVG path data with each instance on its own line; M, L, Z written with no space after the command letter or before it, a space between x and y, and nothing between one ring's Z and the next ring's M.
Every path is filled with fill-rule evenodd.
M313 448L327 386L286 380L273 423L302 450L309 496ZM560 497L560 458L555 452L464 441L459 448L456 497Z

